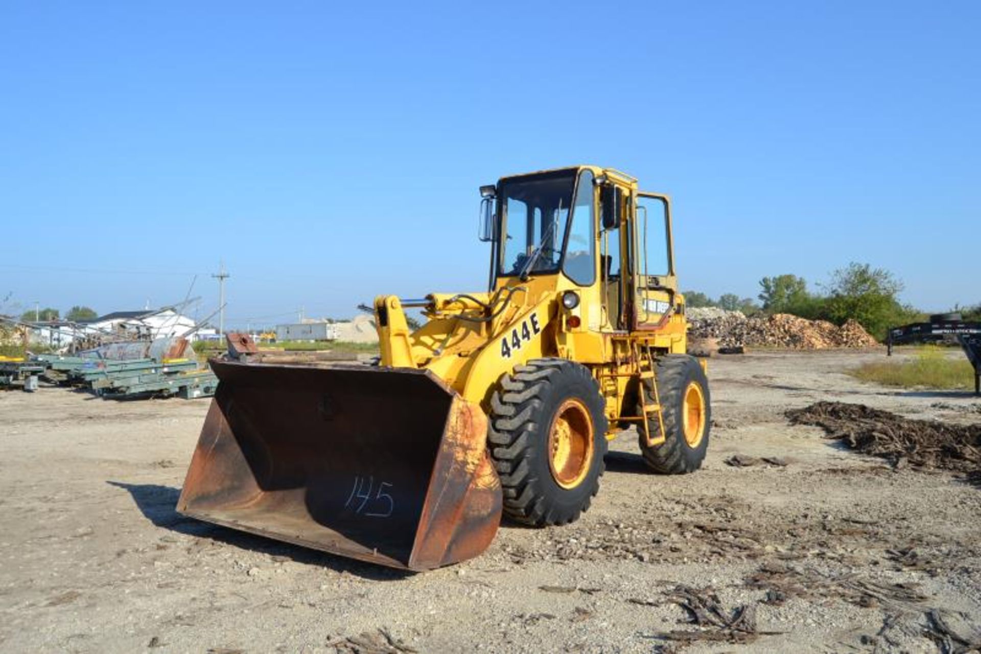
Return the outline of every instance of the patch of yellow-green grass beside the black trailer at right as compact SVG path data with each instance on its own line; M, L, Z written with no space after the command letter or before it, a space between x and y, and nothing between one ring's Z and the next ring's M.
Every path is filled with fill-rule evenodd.
M883 386L973 389L974 368L970 362L966 357L948 357L947 352L926 346L918 348L911 360L864 363L849 370L849 374Z

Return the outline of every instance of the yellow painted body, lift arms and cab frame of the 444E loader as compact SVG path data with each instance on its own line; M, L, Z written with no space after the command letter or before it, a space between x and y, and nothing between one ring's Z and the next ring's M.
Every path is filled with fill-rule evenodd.
M644 261L641 248L646 226L637 210L638 200L643 196L664 203L667 274L648 276L645 270L632 271L631 266L625 265L618 281L620 297L627 300L629 328L618 330L610 320L602 292L602 285L610 280L600 270L602 256L595 255L594 283L589 286L580 286L559 271L533 275L527 281L517 277L497 278L492 290L485 293L434 293L425 300L406 302L395 296L376 298L381 365L429 369L464 400L480 405L487 412L490 394L498 381L516 366L543 356L570 359L588 366L599 384L610 425L608 439L615 437L624 423L636 421L641 425L639 429L647 445L657 445L664 440L664 428L656 401L654 359L659 354L684 354L688 329L685 300L677 291L673 270L670 198L642 192L636 179L610 168L577 166L557 170L575 170L577 176L588 170L598 181L593 194L593 251L599 254L608 251L611 238L619 238L621 252L629 252L632 261ZM530 175L548 172L555 171ZM502 178L500 182L507 179ZM617 229L600 228L600 188L604 185L619 190ZM578 304L571 309L562 303L567 292L580 296ZM510 301L487 322L460 318L461 314L485 311L492 298L500 300L503 294ZM415 331L409 329L405 315L405 308L411 306L421 307L428 319ZM648 306L660 310L651 314ZM643 321L639 316L642 312ZM645 394L638 392L644 379L649 379L653 386L652 405L645 405ZM645 415L638 414L639 404L643 413L657 413L661 433L647 431Z

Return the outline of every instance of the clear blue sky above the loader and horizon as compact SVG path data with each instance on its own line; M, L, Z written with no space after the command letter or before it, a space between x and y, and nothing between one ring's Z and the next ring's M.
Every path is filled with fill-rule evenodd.
M855 260L981 302L981 3L0 5L0 311L482 290L478 186L675 200L681 284ZM4 303L5 302L5 303Z

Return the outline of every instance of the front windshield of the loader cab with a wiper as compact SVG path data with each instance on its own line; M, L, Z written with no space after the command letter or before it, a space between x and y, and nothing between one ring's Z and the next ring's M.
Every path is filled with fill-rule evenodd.
M519 275L539 245L542 251L528 272L558 271L575 184L575 170L501 183L501 277Z

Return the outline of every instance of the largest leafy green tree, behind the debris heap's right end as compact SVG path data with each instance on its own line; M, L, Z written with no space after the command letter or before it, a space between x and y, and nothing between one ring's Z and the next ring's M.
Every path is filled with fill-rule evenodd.
M897 296L903 282L884 268L852 262L831 273L824 312L829 320L842 324L857 320L876 338L885 338L895 325L915 319L918 312L900 303Z

